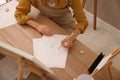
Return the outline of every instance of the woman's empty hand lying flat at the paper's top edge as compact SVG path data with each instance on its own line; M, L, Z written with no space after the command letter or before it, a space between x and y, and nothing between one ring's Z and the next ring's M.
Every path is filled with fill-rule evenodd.
M36 26L36 29L47 36L52 36L54 34L54 32L46 25L38 25Z

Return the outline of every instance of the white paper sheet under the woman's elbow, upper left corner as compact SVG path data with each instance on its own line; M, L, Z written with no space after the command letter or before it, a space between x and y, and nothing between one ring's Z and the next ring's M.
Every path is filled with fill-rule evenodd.
M16 0L12 0L0 6L0 29L17 23L14 16L15 8L17 5L18 2ZM8 11L6 12L6 10ZM39 13L40 11L38 9L31 7L31 12L28 15L35 19Z

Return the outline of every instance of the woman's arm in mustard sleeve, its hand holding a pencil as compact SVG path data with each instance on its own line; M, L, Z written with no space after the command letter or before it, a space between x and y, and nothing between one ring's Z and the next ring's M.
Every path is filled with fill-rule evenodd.
M66 48L71 47L76 37L79 34L82 34L88 26L88 21L83 11L80 0L69 0L69 5L73 9L77 24L74 26L74 31L62 41L62 46Z

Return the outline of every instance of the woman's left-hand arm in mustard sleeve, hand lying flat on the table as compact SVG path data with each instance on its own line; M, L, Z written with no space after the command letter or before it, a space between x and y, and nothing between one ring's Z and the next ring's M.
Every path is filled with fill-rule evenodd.
M32 2L33 1L36 0L32 0ZM35 2L33 3L32 2L31 0L19 0L19 4L16 7L16 11L15 11L16 20L18 21L19 24L27 24L45 35L48 36L53 35L53 31L50 30L49 27L38 24L37 22L32 20L30 16L27 15L31 10L31 5L36 7L38 4L37 2L36 4Z

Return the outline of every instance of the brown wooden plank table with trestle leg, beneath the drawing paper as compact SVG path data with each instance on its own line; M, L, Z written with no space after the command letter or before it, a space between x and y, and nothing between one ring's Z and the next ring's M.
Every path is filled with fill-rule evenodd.
M45 24L49 26L56 34L69 34L67 31L63 30L54 22L41 15L38 17L38 19L36 19L36 21L40 24ZM32 39L40 37L41 34L39 32L27 25L14 24L6 28L0 29L1 42L4 42L17 49L20 49L31 56L34 55ZM80 50L84 50L85 53L80 54ZM6 56L14 58L18 62L18 80L22 80L24 67L29 68L32 72L38 74L39 76L42 75L42 68L40 66L36 66L35 62L30 60L29 58L14 54L10 51L3 49L1 46L0 52ZM84 44L76 40L73 46L69 49L66 67L64 69L51 68L51 70L53 71L53 75L58 80L73 80L74 78L76 78L80 74L83 74L87 70L87 68L96 58L96 56L97 55L92 50L90 50ZM100 74L96 74L94 77L95 80L104 80L104 75L102 75L101 77L101 72ZM105 80L109 80L109 78Z

